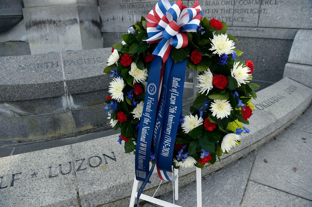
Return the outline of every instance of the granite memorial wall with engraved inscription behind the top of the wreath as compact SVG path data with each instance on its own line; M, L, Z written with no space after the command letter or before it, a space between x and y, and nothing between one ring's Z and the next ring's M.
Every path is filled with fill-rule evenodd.
M183 1L191 7L195 1ZM128 26L146 16L157 1L99 0L104 47L120 42ZM312 29L310 0L203 0L204 16L226 21L243 60L255 63L254 82L267 87L283 77L298 29Z

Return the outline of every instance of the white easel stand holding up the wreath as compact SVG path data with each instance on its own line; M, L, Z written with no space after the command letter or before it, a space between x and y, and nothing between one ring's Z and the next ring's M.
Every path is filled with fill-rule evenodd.
M185 88L192 88L193 89L194 97L196 97L196 93L198 92L198 88L195 87L198 83L197 76L198 76L198 71L193 70L193 83L191 83L191 82L185 82L184 83ZM174 169L174 175L178 175L178 169ZM160 199L157 199L157 198L154 198L152 196L145 195L145 194L141 194L140 199L146 200L150 203L154 203L154 204L161 205L164 207L182 207L182 206L174 204L174 200L178 200L178 184L179 184L178 179L179 179L179 176L177 177L177 180L174 181L173 203L169 203L167 201L160 200ZM139 181L137 181L135 179L135 175L134 175L134 181L133 181L133 187L132 187L132 193L131 193L131 199L130 199L129 207L134 207L135 198L137 198L137 196L138 196L138 191L137 191L138 185L139 185ZM196 188L197 188L197 207L202 207L202 169L198 168L198 167L196 167Z

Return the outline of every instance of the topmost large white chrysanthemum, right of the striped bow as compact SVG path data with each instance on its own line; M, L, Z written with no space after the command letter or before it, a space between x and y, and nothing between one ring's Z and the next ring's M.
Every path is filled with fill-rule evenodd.
M234 42L229 40L227 35L213 35L213 39L210 39L210 41L212 42L212 48L209 50L215 50L212 54L218 54L221 56L223 53L231 54L234 51Z

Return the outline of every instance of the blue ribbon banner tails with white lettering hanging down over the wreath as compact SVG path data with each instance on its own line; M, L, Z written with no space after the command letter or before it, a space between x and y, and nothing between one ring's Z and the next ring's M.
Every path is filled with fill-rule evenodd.
M149 68L149 80L136 143L135 175L138 181L143 181L137 195L138 207L140 206L139 197L146 184L150 182L149 178L156 162L159 169L172 172L172 154L182 111L186 59L179 63L173 63L171 54L169 55L164 65L163 84L158 102L161 62L161 57L155 56ZM153 144L151 145L152 139ZM155 150L155 160L149 170L151 147Z

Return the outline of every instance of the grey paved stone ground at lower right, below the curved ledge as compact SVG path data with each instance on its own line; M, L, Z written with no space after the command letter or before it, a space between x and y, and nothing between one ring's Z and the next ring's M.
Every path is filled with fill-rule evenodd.
M312 206L311 121L312 107L263 147L203 178L202 206ZM172 203L172 192L160 199ZM174 203L196 206L196 182L180 187Z

